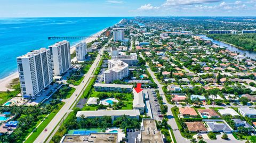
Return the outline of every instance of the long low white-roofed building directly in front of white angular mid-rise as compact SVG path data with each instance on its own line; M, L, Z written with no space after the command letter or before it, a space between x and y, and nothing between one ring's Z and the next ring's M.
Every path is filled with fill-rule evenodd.
M132 85L118 85L118 84L107 84L107 83L95 83L93 86L95 91L99 92L132 92Z

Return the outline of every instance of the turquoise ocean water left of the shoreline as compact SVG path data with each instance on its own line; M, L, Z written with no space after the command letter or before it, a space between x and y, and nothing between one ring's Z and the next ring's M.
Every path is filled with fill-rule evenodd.
M0 18L0 79L17 71L16 57L48 47L51 36L91 36L123 18ZM69 40L70 46L82 39Z

